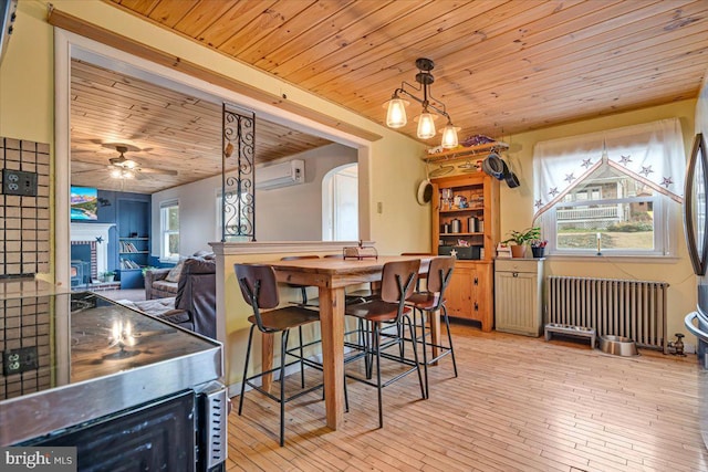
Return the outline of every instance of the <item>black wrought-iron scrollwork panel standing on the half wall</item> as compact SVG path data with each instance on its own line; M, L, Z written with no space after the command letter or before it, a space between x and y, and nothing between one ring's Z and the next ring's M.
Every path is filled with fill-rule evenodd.
M231 108L231 109L229 109ZM223 104L221 241L256 241L256 115Z

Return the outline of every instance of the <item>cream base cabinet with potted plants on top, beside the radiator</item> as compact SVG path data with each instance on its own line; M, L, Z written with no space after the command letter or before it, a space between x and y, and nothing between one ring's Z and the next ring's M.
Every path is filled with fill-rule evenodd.
M543 329L543 259L494 260L494 328L540 336Z

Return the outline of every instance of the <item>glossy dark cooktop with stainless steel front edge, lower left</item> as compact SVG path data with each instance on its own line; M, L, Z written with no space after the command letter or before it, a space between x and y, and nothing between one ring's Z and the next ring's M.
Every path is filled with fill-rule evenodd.
M95 294L0 297L0 323L13 326L15 319L24 325L37 322L21 329L21 345L38 346L38 366L22 374L0 371L0 445L222 376L220 343ZM117 326L123 326L121 336ZM0 329L0 352L18 347L12 336L11 331L3 336Z

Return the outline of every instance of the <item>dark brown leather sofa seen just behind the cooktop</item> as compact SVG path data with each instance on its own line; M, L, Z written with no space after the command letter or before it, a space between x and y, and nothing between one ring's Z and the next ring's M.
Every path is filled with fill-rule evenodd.
M183 261L173 296L144 302L121 302L134 310L177 326L216 338L217 277L214 259L187 258Z

